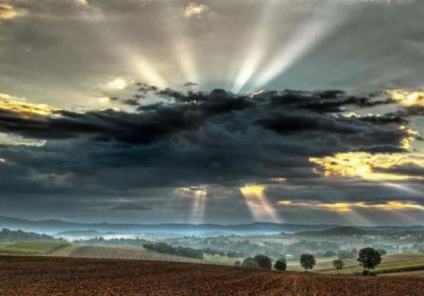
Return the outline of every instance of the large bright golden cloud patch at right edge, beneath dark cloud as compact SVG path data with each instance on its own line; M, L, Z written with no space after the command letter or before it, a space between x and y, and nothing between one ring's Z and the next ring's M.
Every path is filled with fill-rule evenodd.
M410 178L422 178L397 173L384 173L381 171L408 164L420 166L424 169L423 155L348 152L321 158L311 157L309 161L319 166L315 171L323 173L323 176L362 178L369 181L401 181Z

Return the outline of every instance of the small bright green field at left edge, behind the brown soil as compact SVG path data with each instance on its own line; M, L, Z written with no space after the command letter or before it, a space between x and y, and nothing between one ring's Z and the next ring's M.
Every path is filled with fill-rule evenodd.
M55 241L23 241L0 244L0 255L48 255L71 244Z

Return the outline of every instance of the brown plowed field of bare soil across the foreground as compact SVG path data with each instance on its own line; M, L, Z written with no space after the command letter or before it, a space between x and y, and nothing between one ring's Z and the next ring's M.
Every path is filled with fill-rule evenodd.
M0 257L2 296L422 296L422 278L354 278L229 266L61 257Z

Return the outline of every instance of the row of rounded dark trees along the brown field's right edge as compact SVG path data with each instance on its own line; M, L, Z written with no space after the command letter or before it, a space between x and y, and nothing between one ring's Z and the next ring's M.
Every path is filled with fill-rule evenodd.
M357 261L364 268L363 274L369 275L370 270L379 266L379 264L382 262L382 255L384 254L385 252L382 252L382 250L376 250L372 248L361 249L358 254ZM305 271L309 271L312 270L316 265L316 260L314 255L302 254L299 257L299 263ZM278 259L273 265L271 258L265 255L256 255L253 258L246 258L242 263L240 261L236 261L234 265L248 268L274 268L277 271L285 271L287 269L287 261L285 258ZM337 273L339 273L339 271L344 268L345 262L341 258L338 258L337 260L333 261L333 266L336 268Z

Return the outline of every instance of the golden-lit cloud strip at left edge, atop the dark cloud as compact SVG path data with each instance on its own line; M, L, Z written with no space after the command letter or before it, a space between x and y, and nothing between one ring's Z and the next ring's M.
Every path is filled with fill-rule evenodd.
M23 118L38 115L48 116L59 110L44 104L25 103L22 99L6 93L0 93L0 109L18 113Z

